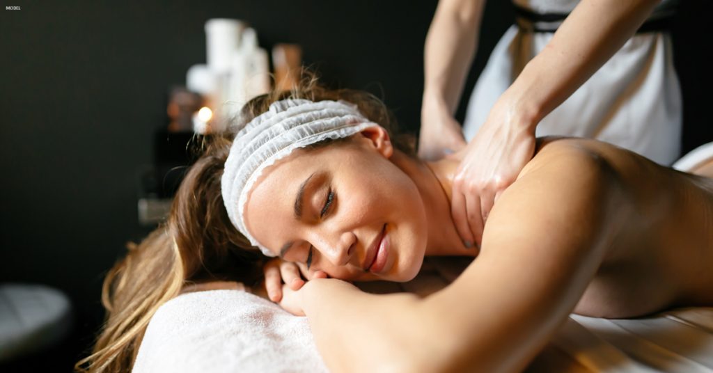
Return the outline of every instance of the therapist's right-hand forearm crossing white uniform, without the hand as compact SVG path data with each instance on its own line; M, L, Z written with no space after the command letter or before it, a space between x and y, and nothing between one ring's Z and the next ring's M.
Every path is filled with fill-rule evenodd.
M523 126L535 126L587 81L649 16L659 1L583 0L504 93Z

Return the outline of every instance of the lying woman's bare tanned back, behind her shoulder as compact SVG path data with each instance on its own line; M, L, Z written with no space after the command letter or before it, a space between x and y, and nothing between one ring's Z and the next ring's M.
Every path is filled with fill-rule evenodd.
M583 139L541 140L520 177L582 150L610 167L627 196L622 214L631 218L621 220L622 229L575 312L634 317L675 305L713 304L713 179ZM576 170L562 172L576 177Z

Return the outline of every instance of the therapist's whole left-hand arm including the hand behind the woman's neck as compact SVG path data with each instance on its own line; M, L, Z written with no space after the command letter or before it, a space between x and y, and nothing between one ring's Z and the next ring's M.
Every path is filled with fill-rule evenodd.
M440 158L443 148L466 145L453 113L477 50L484 5L485 0L438 2L424 46L421 158Z

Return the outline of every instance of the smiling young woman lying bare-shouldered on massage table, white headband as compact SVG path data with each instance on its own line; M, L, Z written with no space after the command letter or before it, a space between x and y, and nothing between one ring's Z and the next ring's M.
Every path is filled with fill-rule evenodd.
M570 312L713 305L713 179L542 138L466 247L450 208L459 155L415 158L390 118L369 94L314 82L247 103L234 139L207 140L165 227L108 275L108 321L81 364L128 369L160 305L218 281L306 315L334 372L517 371ZM409 281L426 255L475 259L426 297L350 283Z

